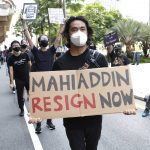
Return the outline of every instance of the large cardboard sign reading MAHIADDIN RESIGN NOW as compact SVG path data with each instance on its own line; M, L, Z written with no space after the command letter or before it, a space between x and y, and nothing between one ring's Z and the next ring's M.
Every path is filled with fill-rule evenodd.
M128 66L30 73L32 117L67 118L135 108Z

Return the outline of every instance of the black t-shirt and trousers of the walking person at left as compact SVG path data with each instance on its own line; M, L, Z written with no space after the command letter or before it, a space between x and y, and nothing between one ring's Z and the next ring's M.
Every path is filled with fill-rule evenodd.
M14 79L16 83L18 105L21 112L24 111L23 91L24 87L29 91L29 56L26 53L21 53L19 56L11 55L8 59L8 66L13 67Z

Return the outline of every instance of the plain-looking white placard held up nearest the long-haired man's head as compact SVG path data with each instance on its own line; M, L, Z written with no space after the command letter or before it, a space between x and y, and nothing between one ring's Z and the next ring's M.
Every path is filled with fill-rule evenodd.
M64 24L64 13L62 8L48 8L49 23Z

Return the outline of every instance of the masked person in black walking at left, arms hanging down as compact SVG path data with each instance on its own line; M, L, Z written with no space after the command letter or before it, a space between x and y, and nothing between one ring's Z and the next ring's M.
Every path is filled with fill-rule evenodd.
M31 61L26 53L21 53L20 43L12 41L11 48L13 54L8 59L8 66L10 72L11 86L14 87L13 80L15 79L18 105L20 108L20 116L24 116L24 87L29 90L29 68Z

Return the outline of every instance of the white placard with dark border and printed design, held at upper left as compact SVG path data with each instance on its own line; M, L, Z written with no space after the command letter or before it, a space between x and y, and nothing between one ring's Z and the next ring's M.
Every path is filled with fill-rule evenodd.
M37 15L38 5L36 3L24 3L23 6L23 19L35 20Z

